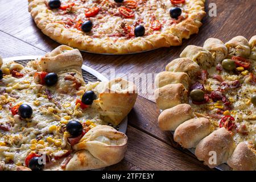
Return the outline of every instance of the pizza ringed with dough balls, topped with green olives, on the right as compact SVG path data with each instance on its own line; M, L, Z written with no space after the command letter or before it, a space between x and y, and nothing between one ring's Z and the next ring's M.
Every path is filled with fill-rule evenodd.
M187 46L155 78L160 129L210 168L256 170L256 36Z

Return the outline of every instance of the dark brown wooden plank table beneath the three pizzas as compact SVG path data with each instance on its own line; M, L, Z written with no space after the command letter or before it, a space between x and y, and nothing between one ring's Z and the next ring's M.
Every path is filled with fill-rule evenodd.
M210 37L224 42L237 35L247 39L256 35L255 0L210 0L217 4L217 17L205 17L198 35L184 40L183 46L160 48L134 55L95 55L82 53L84 64L98 72L158 73L171 60L179 56L189 44L203 46ZM2 57L44 55L59 46L35 26L27 11L27 1L3 0L0 6L0 55ZM189 152L182 150L172 140L170 132L160 131L157 126L159 110L154 102L147 100L148 94L140 94L134 109L128 116L129 138L125 159L109 170L208 170Z

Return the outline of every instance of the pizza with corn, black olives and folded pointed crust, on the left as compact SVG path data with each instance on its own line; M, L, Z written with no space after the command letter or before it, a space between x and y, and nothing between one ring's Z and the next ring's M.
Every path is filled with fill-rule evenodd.
M59 46L27 65L0 59L0 171L88 170L120 162L117 131L137 98L122 78L84 82L78 49Z

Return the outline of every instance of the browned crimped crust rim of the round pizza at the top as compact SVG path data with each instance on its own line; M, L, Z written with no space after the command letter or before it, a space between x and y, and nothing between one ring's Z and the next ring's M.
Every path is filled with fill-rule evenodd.
M82 31L70 30L63 24L54 22L51 10L47 9L44 0L28 0L28 11L42 32L61 44L90 52L119 54L179 46L182 39L188 39L190 35L199 31L202 24L200 20L205 16L204 3L204 0L188 1L189 8L186 10L188 17L171 28L160 31L159 34L133 39L118 39L117 41L107 36L103 39L92 38Z

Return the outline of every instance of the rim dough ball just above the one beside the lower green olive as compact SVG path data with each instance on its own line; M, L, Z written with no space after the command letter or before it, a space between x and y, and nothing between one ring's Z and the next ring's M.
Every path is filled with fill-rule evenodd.
M160 88L168 84L183 84L188 90L190 82L191 80L188 74L184 72L160 72L155 77L156 88Z

